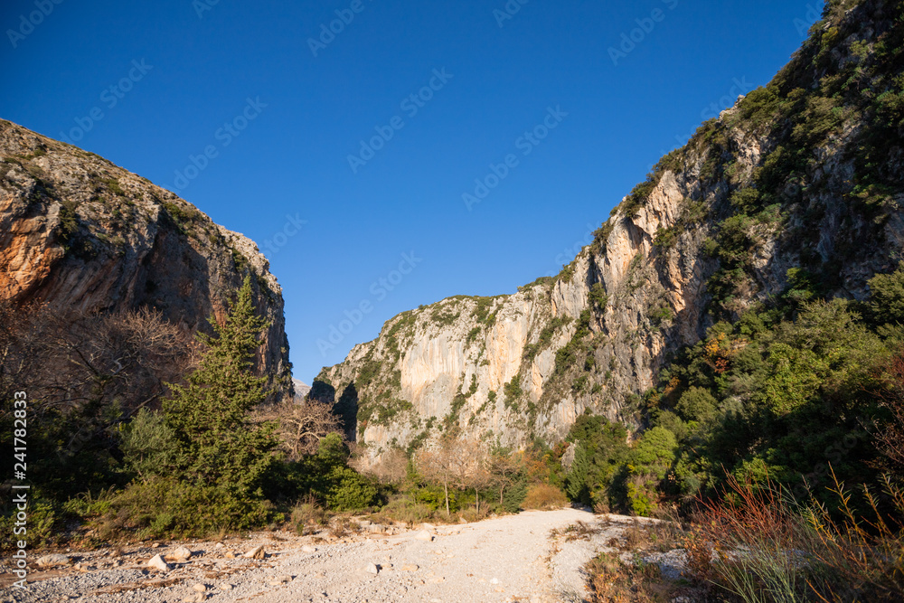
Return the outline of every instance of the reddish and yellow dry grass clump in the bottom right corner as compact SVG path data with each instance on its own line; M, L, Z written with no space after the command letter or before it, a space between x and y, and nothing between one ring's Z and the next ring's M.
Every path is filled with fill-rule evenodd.
M869 488L871 516L852 511L852 494L835 480L841 519L815 501L803 511L777 486L730 481L725 502L702 504L685 540L689 574L743 601L904 600L904 493L886 478L891 509Z

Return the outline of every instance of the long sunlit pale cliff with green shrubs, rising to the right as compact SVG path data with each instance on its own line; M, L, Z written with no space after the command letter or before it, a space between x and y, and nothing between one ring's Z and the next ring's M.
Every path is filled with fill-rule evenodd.
M766 88L665 156L556 278L392 318L320 374L370 457L459 426L520 446L640 396L714 323L777 297L861 299L904 248L902 27L830 2Z

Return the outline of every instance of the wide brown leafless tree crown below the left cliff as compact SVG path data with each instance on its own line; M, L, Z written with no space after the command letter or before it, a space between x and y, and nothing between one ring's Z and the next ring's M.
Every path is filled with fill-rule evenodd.
M0 302L0 393L27 389L33 410L157 400L193 363L190 335L154 310L61 313Z

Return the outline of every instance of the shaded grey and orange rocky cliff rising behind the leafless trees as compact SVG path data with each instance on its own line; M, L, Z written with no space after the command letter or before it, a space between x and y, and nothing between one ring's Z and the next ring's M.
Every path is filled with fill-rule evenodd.
M60 311L150 306L210 333L245 275L270 326L258 371L292 382L282 291L257 246L97 155L0 120L0 297Z

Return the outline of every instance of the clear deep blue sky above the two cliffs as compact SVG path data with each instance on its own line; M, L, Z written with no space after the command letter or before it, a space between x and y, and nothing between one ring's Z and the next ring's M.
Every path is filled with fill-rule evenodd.
M505 0L214 2L6 0L0 117L71 137L257 241L308 383L401 311L557 272L733 87L766 83L822 9L511 0L504 18ZM312 50L336 11L350 22ZM614 61L623 33L636 42ZM377 127L392 137L371 156L361 141ZM491 164L508 174L469 211L462 195ZM342 325L362 302L360 324ZM331 325L352 328L322 351Z

